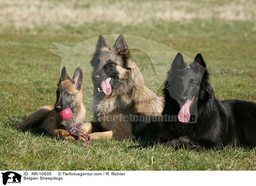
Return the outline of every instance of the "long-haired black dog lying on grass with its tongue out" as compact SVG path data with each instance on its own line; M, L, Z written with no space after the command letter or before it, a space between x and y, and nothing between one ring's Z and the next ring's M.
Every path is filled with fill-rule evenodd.
M201 54L187 68L178 53L168 72L163 90L163 116L176 116L164 121L158 141L174 148L205 150L227 145L256 145L256 104L240 100L219 101L215 98L209 73ZM194 114L194 115L192 115ZM193 121L196 121L193 123Z

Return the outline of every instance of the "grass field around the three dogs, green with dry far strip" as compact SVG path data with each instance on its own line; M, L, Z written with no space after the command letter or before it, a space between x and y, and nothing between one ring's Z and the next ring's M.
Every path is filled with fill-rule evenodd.
M42 105L55 103L60 65L73 58L62 59L49 52L57 49L51 43L74 46L100 34L148 38L189 58L200 52L218 99L256 102L255 1L92 2L0 1L0 169L256 170L255 148L197 152L156 145L125 151L125 147L137 145L137 140L115 139L99 139L84 148L80 142L36 134L32 128L25 133L15 130L16 120ZM93 119L91 55L86 53L74 58L81 61L70 61L82 65L84 71L87 121ZM138 64L149 60L136 50L131 55ZM172 60L165 59L169 64L162 63L157 72L165 76ZM67 68L70 76L75 68ZM154 92L164 80L147 73L143 76Z

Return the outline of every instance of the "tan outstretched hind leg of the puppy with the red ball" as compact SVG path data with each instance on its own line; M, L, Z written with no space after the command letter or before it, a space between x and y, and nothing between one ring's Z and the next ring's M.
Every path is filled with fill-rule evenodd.
M45 105L41 108L38 108L26 119L21 121L16 128L18 130L24 130L29 125L38 125L47 117L47 115L54 109L54 105Z

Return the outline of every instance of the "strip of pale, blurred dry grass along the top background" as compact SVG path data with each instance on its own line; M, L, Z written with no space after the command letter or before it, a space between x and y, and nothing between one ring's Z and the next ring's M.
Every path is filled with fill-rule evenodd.
M256 2L227 1L114 1L81 2L2 0L0 1L0 31L15 29L36 33L36 28L61 29L62 26L83 26L86 23L111 22L125 25L151 24L151 21L251 20Z

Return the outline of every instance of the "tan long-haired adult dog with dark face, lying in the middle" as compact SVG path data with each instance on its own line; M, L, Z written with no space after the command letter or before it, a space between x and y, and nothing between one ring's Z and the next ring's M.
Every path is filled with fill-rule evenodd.
M84 129L92 132L91 138L133 139L156 134L161 122L151 119L161 116L163 98L145 87L125 38L120 35L111 49L100 35L90 63L94 68L91 111L96 122L87 122Z

